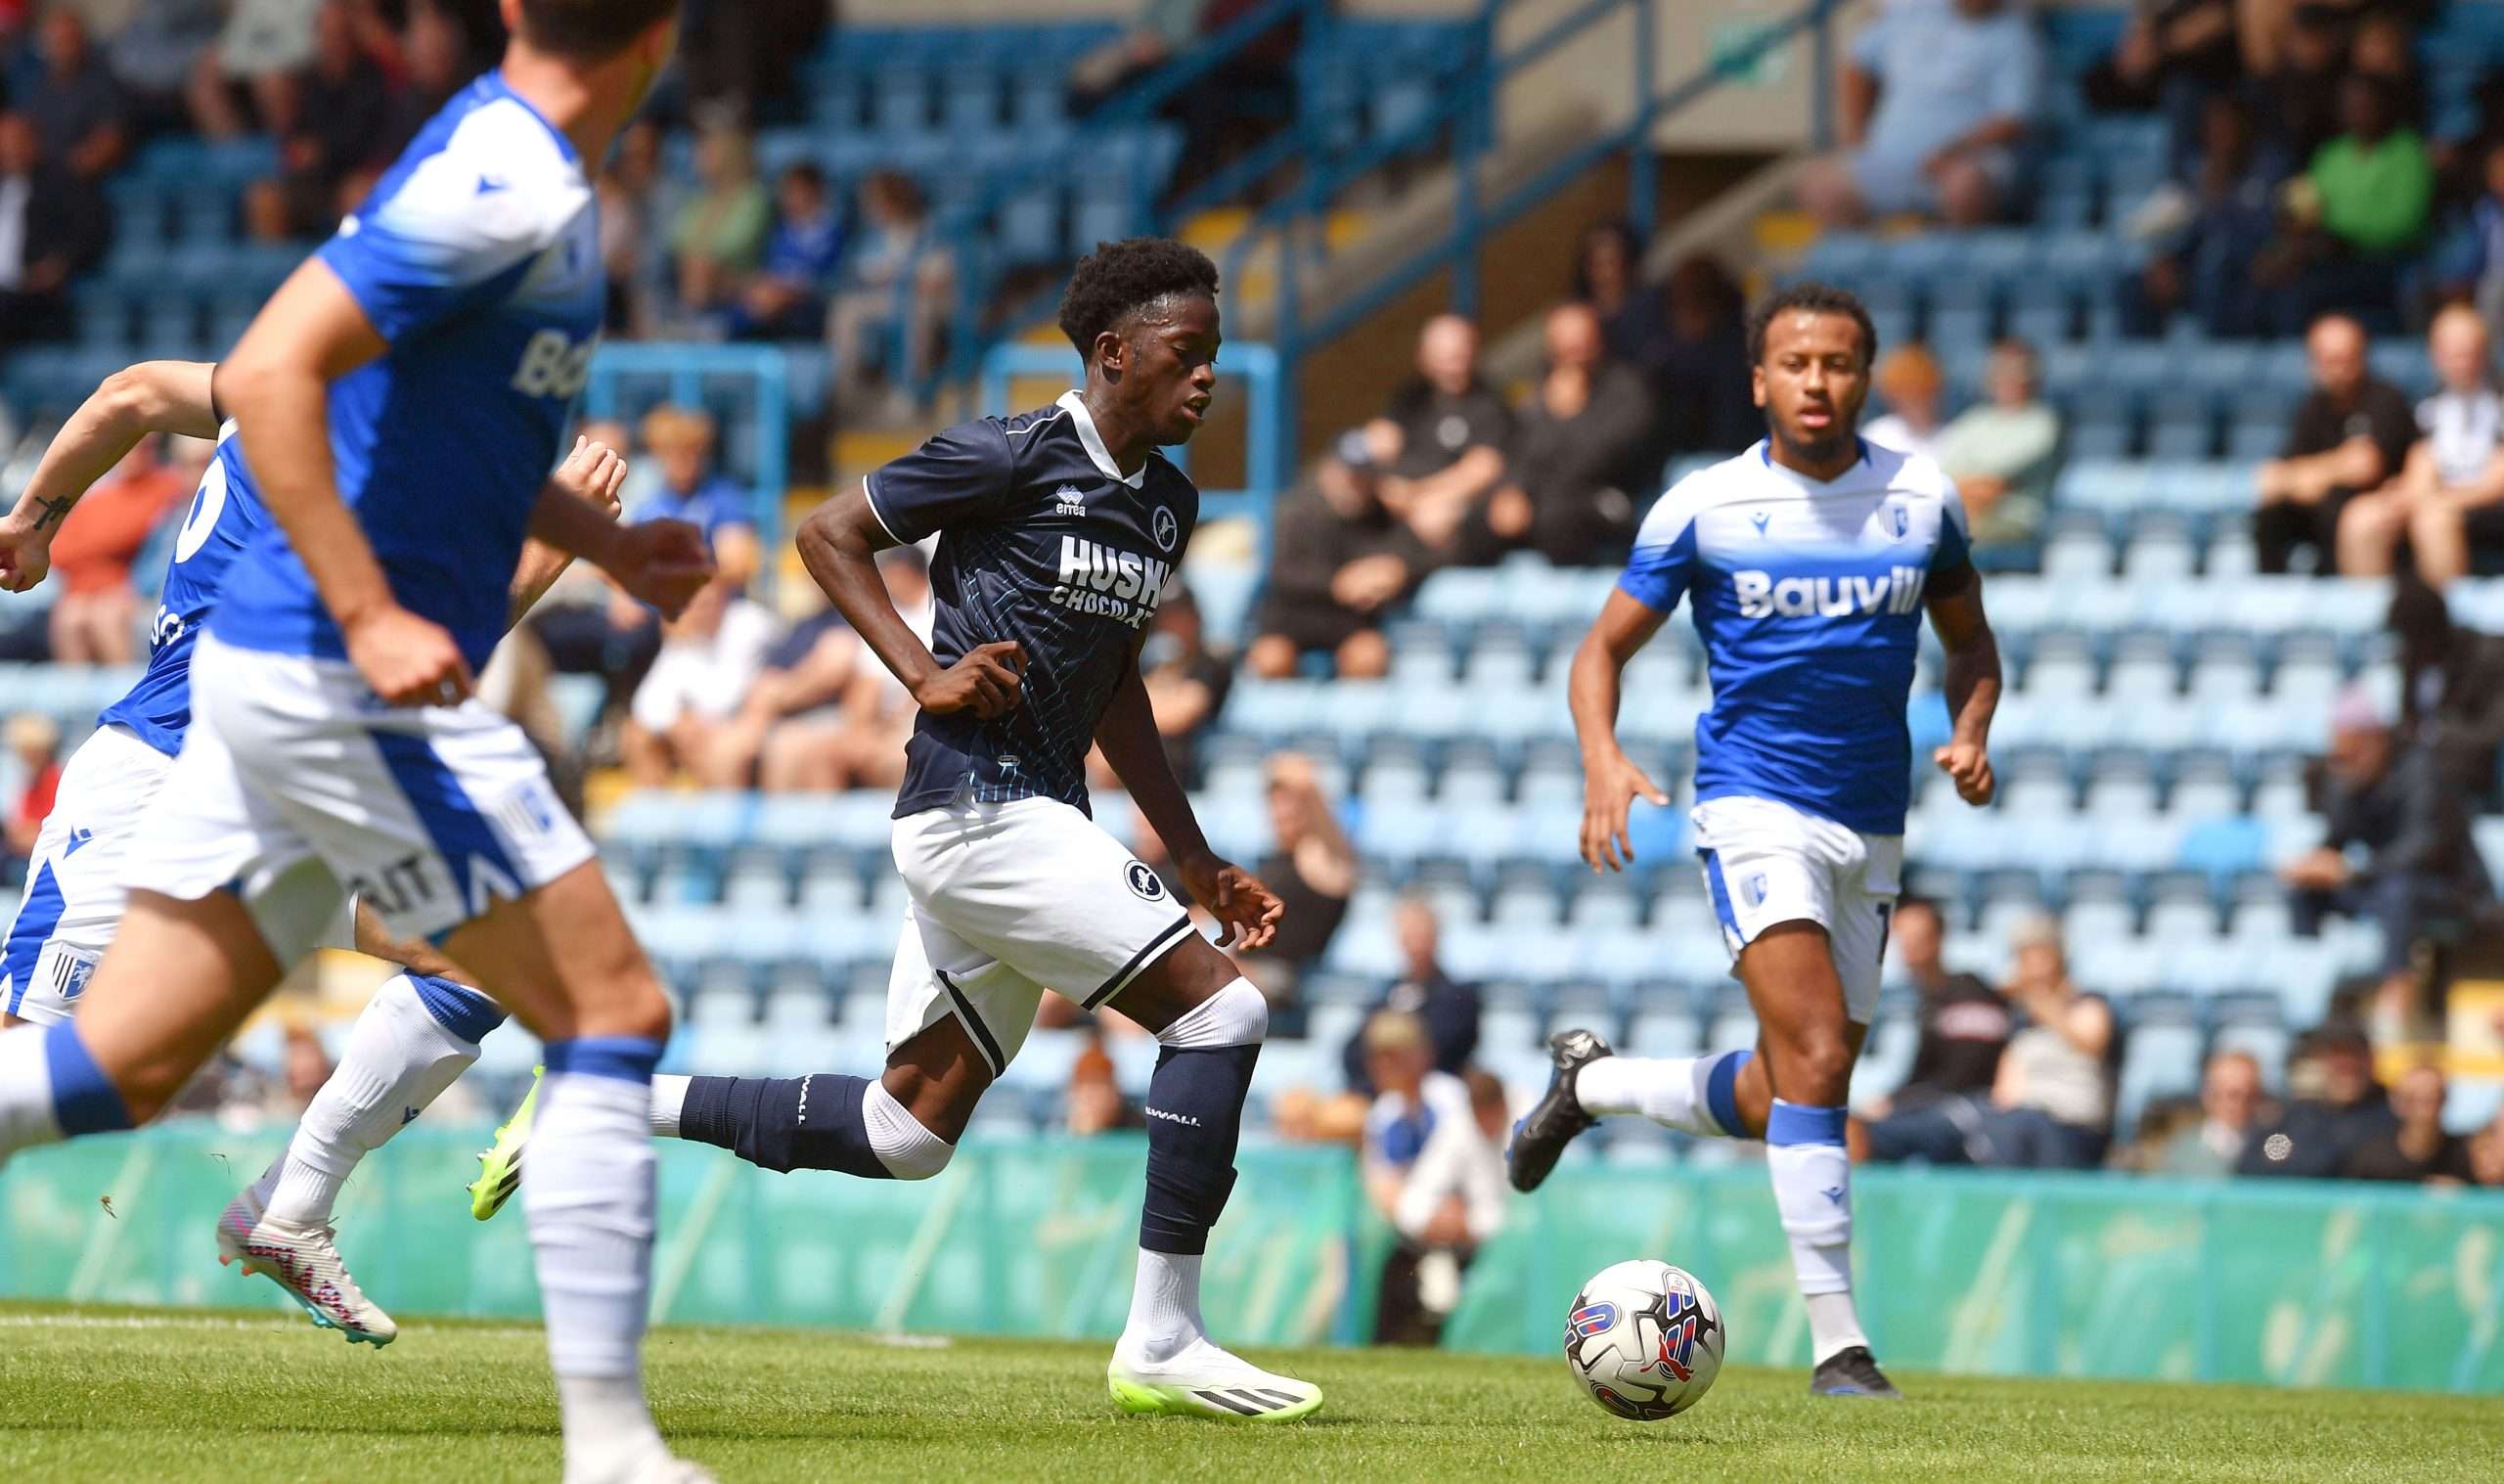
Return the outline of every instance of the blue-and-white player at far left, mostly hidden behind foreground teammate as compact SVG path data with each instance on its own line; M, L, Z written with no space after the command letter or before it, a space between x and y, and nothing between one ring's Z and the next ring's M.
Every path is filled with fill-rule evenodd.
M60 796L28 873L25 898L0 943L0 1026L58 1024L78 1011L95 961L113 941L130 893L123 863L158 786L173 771L190 728L190 653L215 608L228 566L268 526L243 470L235 423L218 415L213 365L145 360L115 370L53 435L18 508L0 516L0 588L28 591L50 571L53 538L105 470L150 433L215 438L175 548L148 636L148 668L128 696L98 716L95 733L70 753ZM626 460L576 438L553 488L616 513ZM573 558L541 541L523 546L513 571L518 618ZM478 1041L503 1024L496 1001L426 943L393 941L371 911L341 913L323 946L358 948L406 968L376 991L338 1069L313 1096L288 1151L223 1221L225 1261L263 1271L318 1324L351 1341L391 1344L398 1326L348 1276L331 1231L331 1206L356 1164L478 1061ZM293 1249L288 1264L258 1264L240 1244Z

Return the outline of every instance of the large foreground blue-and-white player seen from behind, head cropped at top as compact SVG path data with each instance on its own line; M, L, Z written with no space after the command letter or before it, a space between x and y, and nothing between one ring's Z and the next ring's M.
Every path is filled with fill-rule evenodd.
M641 1381L669 999L528 738L468 693L528 536L664 613L711 578L691 526L621 528L543 490L603 310L586 160L651 90L676 3L503 18L501 68L215 373L230 475L270 528L193 651L190 731L78 1019L0 1034L0 1159L155 1116L353 893L546 1039L531 1241L566 1479L701 1479ZM240 1249L293 1254L258 1231Z

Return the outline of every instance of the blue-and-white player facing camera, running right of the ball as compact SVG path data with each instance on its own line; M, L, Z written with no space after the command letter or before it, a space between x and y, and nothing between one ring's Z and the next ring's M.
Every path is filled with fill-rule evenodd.
M1936 463L1858 435L1875 333L1853 295L1798 285L1758 310L1748 350L1768 435L1660 496L1618 591L1573 661L1583 858L1633 861L1628 808L1668 803L1618 746L1625 661L1685 596L1713 708L1695 723L1705 891L1758 1016L1755 1051L1613 1056L1550 1041L1555 1079L1515 1129L1512 1184L1537 1189L1603 1114L1708 1139L1763 1139L1808 1299L1810 1391L1896 1396L1853 1306L1843 1104L1878 1004L1911 793L1906 701L1921 616L1948 651L1956 731L1933 763L1991 803L2001 653L1983 618L1966 508Z

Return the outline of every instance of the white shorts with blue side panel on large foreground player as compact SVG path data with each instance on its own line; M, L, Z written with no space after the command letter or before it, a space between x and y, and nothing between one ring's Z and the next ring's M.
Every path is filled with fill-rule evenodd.
M538 751L483 701L383 706L348 661L203 636L190 733L123 881L183 901L235 888L293 961L343 898L441 943L588 858Z

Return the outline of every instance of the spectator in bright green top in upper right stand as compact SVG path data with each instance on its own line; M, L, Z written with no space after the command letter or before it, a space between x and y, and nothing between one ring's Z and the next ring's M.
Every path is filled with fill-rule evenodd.
M2374 78L2341 78L2339 123L2286 190L2294 230L2261 285L2301 318L2349 310L2396 325L2401 273L2434 213L2434 155Z

